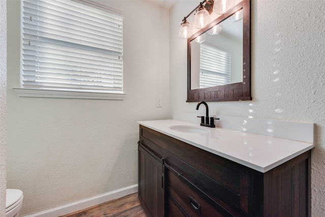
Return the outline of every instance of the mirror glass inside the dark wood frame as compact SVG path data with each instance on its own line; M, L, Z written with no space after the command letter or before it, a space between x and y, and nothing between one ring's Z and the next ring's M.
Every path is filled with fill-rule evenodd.
M191 89L243 81L243 19L225 19L213 28L190 42Z

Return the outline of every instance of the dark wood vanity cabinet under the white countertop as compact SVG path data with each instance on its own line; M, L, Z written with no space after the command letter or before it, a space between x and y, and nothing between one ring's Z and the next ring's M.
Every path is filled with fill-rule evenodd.
M262 173L140 126L139 199L151 216L310 216L310 154Z

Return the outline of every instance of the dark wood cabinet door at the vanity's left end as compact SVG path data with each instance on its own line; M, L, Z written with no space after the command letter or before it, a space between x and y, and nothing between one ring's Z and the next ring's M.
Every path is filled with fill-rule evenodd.
M139 200L151 216L164 216L164 159L139 143Z

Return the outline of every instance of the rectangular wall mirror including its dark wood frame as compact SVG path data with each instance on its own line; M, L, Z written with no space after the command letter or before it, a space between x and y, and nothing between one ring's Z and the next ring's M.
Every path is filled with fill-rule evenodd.
M236 12L242 12L243 19L230 21ZM222 30L210 35L214 26ZM186 102L241 100L251 100L249 0L243 0L187 40Z

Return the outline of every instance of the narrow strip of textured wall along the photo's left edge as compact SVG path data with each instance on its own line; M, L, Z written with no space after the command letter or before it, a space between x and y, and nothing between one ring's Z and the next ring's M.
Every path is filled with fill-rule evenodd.
M6 214L7 6L0 0L0 216Z

